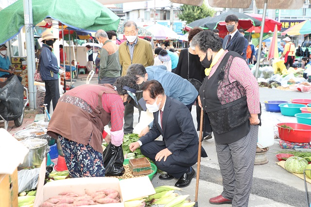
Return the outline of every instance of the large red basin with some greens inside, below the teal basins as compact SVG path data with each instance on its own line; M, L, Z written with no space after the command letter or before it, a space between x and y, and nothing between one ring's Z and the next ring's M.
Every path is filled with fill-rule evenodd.
M281 127L284 124L293 129L290 130ZM278 123L276 126L278 128L278 136L282 140L297 143L311 142L311 125L302 123Z

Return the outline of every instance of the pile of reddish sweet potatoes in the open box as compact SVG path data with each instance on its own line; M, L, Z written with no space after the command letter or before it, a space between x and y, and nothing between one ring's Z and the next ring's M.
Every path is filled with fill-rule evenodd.
M120 202L120 194L113 189L92 191L85 189L85 195L72 192L62 192L49 198L40 207L79 207L87 205L111 204Z

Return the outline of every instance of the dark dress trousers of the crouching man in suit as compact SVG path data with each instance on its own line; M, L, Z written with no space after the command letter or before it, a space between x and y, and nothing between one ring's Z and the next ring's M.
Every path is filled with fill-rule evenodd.
M151 141L146 144L140 146L141 154L145 155L146 157L150 158L156 165L158 169L173 175L174 178L179 179L184 173L188 171L188 169L194 165L195 163L180 163L174 159L176 155L170 155L166 158L164 162L164 158L160 161L155 161L155 155L164 150L166 148L165 145L159 146L156 142L162 141Z

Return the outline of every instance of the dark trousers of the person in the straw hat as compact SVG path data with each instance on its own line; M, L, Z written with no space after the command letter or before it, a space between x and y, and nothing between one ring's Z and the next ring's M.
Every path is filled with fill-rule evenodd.
M50 113L50 104L52 100L53 110L55 110L56 104L60 97L59 95L59 82L58 79L56 80L46 80L45 83L45 97L44 97L44 104L48 104L48 112Z

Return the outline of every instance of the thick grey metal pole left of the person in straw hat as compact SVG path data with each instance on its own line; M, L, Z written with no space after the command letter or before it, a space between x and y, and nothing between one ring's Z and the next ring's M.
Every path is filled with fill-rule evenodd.
M34 65L32 58L35 57L32 55L31 47L31 30L30 27L33 27L33 22L31 22L29 17L29 8L32 8L32 5L29 5L29 0L23 0L24 6L24 22L25 22L25 35L26 35L26 52L27 52L27 73L28 73L28 89L29 89L29 108L35 109L35 102L34 102Z

